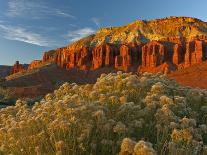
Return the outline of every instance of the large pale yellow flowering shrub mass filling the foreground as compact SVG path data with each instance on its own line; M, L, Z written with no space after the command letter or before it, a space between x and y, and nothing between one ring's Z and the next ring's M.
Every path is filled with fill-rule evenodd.
M118 153L207 154L207 91L117 72L0 110L0 154Z

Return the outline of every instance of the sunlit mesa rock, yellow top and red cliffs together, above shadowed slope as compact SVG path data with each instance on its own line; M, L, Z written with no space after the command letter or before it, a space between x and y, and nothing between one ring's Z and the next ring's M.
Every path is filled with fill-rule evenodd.
M207 59L207 23L190 17L137 20L122 27L102 28L66 47L45 52L42 60L60 68L170 73ZM21 70L15 64L13 72Z

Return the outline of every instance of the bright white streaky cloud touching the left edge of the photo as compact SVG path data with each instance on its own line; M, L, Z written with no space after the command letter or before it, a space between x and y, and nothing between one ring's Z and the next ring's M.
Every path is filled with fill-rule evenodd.
M48 41L49 39L21 27L0 24L0 34L3 38L8 40L16 40L45 47L51 47L52 45L52 41Z

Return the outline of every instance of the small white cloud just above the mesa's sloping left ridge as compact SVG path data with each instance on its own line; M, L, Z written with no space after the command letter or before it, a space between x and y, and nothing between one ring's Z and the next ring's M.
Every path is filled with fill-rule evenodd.
M74 31L68 31L68 33L64 35L64 37L67 38L69 41L74 42L95 32L96 31L94 29L90 27L85 27Z

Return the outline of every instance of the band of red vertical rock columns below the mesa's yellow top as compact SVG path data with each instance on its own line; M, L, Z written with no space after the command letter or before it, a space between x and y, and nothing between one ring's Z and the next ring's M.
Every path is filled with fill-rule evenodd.
M61 68L96 70L113 67L123 71L164 72L186 68L205 61L207 40L195 39L183 44L151 41L146 44L103 44L95 47L56 50L53 60ZM44 60L43 60L44 61Z

